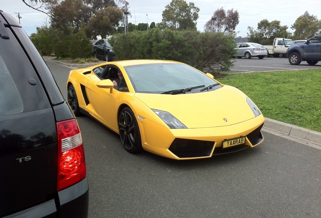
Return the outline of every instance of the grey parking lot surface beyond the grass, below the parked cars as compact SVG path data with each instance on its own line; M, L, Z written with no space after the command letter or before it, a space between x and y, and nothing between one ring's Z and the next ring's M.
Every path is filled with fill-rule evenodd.
M234 59L235 63L232 69L224 73L253 73L253 72L269 72L283 70L307 70L319 69L321 62L314 66L301 62L300 65L290 65L288 59L284 58L251 58L251 59Z

